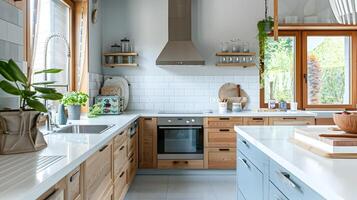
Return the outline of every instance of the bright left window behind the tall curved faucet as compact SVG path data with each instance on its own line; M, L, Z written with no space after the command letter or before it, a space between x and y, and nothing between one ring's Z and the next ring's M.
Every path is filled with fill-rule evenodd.
M55 81L59 91L66 92L70 88L71 60L68 48L71 42L71 2L61 0L30 1L30 38L33 70L61 68L60 74L37 75L36 81ZM49 40L47 61L45 61L46 41ZM67 43L67 44L66 44ZM47 66L45 63L47 62Z

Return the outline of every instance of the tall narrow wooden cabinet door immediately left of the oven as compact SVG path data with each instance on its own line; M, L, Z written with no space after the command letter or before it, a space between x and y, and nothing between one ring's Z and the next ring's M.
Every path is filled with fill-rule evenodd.
M157 118L140 118L139 168L157 168Z

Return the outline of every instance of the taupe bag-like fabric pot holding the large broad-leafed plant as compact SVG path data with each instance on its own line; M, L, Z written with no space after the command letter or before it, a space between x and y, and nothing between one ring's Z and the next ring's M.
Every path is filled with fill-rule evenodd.
M0 154L39 151L47 147L39 131L46 116L38 111L0 111Z

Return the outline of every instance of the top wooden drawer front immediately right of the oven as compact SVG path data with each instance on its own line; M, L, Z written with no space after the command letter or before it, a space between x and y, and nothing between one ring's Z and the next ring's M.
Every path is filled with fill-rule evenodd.
M209 117L205 119L205 127L209 128L233 128L235 125L243 125L243 118Z

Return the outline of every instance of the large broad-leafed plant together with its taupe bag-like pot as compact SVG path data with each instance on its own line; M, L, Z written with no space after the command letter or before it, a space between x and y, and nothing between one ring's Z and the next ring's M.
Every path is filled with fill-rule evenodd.
M37 74L59 73L61 69L46 69ZM43 100L60 100L62 94L49 85L54 82L32 83L13 60L0 61L0 89L18 96L18 110L0 111L0 154L14 154L38 151L47 146L39 124L46 116ZM30 77L30 75L28 75Z

